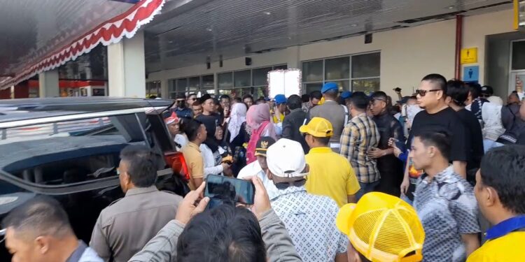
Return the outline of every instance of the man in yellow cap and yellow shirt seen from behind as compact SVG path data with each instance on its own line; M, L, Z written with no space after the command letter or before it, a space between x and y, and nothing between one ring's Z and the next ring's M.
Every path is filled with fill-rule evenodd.
M327 119L314 117L299 131L310 147L306 160L310 166L306 189L310 194L329 196L339 208L346 203L355 203L359 182L346 158L333 152L328 143L333 134L332 124Z

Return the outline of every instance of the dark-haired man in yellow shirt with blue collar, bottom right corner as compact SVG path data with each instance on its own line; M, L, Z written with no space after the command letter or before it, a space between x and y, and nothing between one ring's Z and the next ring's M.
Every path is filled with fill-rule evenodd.
M525 146L490 150L476 173L479 210L494 226L467 262L525 261Z

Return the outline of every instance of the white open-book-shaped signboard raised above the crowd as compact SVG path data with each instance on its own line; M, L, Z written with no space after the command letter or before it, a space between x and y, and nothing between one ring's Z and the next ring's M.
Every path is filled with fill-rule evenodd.
M268 72L268 95L273 99L278 94L289 97L301 94L301 71L299 69L274 70Z

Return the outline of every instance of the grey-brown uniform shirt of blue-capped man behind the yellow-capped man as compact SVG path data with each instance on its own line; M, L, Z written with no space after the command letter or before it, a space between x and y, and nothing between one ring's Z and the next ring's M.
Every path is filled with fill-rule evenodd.
M332 123L334 134L330 138L330 143L338 144L339 139L341 138L341 133L343 133L343 128L346 124L344 122L344 115L346 112L344 112L343 106L344 105L339 105L335 101L328 100L322 105L316 105L310 109L309 119L314 117L323 117Z

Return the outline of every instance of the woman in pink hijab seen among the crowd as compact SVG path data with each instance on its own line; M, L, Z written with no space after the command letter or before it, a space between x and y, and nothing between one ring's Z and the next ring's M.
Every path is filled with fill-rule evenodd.
M251 137L246 148L246 163L251 163L255 157L255 145L262 136L269 136L277 140L275 126L270 121L269 105L264 103L252 105L246 114L246 124L251 129Z

